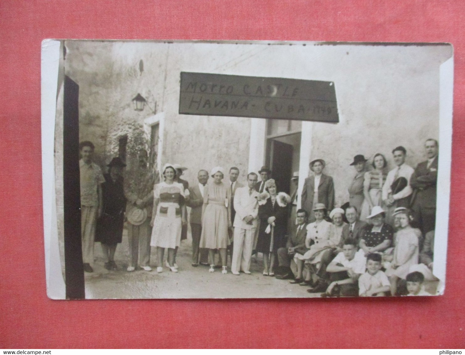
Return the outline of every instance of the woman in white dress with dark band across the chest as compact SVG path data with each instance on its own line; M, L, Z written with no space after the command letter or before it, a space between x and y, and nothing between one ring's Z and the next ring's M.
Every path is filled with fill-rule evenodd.
M178 272L174 267L174 249L181 242L181 226L186 223L186 206L184 204L184 187L174 182L176 169L172 164L165 164L162 169L165 181L155 185L153 189L153 214L151 225L152 240L150 245L157 247L158 268L163 271L163 254L168 248L168 265L171 271Z

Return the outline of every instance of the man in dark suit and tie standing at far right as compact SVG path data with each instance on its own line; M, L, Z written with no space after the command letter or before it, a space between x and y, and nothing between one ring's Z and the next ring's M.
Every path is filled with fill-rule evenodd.
M412 197L413 221L423 234L436 225L436 183L438 180L438 141L425 141L427 161L417 165L410 178L414 189Z

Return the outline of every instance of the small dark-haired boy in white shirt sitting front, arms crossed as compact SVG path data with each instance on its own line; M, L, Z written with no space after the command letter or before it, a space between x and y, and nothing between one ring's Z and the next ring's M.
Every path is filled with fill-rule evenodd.
M360 296L386 296L391 288L386 274L381 271L381 254L366 256L366 272L359 277Z

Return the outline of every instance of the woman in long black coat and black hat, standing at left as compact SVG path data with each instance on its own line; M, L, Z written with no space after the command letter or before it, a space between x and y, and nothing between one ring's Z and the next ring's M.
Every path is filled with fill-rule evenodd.
M114 262L116 246L121 243L123 236L124 211L126 209L126 197L124 196L122 172L126 164L118 157L108 164L108 174L105 174L105 182L102 184L103 209L97 220L95 241L100 241L103 254L107 261L105 268L116 270Z

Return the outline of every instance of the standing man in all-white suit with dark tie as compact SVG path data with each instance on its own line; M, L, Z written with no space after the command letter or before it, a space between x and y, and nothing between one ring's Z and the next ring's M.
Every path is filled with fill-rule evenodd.
M231 261L233 275L239 271L250 274L250 259L252 257L253 239L257 228L259 205L255 191L258 176L255 173L247 175L247 186L238 188L234 198L236 216L234 218L234 249Z

